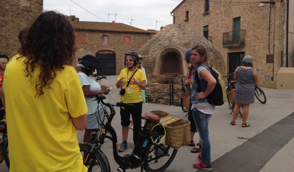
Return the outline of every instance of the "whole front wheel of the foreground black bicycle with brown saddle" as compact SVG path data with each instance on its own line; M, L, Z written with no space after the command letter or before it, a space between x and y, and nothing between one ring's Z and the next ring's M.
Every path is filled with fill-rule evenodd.
M104 157L98 153L96 149L93 150L93 153L86 154L86 151L89 149L89 145L80 144L80 151L82 156L88 156L88 163L83 162L83 164L88 168L88 172L110 172L109 162L104 155Z

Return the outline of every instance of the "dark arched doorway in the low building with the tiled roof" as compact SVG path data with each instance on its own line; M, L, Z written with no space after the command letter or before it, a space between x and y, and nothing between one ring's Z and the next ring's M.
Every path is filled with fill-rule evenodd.
M116 57L115 52L111 50L100 50L96 52L96 58L100 61L101 70L98 75L115 75L116 73Z

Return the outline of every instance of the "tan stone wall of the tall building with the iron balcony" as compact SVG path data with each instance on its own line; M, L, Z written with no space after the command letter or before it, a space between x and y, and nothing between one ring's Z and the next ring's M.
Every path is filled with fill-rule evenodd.
M244 2L243 0L236 0ZM198 32L203 33L203 27L208 25L208 34L212 36L212 43L220 51L225 61L225 69L228 74L229 53L245 52L254 59L254 67L259 69L259 85L269 88L276 88L277 72L281 67L284 29L285 24L285 4L275 1L275 5L265 4L259 6L258 0L248 0L246 2L256 2L245 5L219 5L211 3L208 13L204 13L203 3L184 1L178 8L175 8L173 15L175 23L187 24ZM270 17L270 38L269 38L269 9ZM189 19L185 20L185 13L189 11ZM223 48L223 33L233 30L233 18L241 18L240 29L245 31L245 46L238 48ZM268 41L270 45L268 45ZM274 46L275 45L275 46ZM267 63L266 55L274 55L274 62ZM265 81L265 76L273 77L273 81Z

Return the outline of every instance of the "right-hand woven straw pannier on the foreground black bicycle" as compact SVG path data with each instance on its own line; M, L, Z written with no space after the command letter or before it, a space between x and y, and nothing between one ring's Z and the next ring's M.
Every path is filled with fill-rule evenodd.
M166 126L165 144L178 150L180 147L191 143L190 121L178 120Z

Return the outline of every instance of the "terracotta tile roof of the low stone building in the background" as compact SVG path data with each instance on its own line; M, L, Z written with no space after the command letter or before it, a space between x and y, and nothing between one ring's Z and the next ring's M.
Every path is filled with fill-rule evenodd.
M78 30L96 30L109 32L131 32L131 33L157 33L158 31L149 31L135 28L123 23L107 23L95 21L71 21L74 29Z

